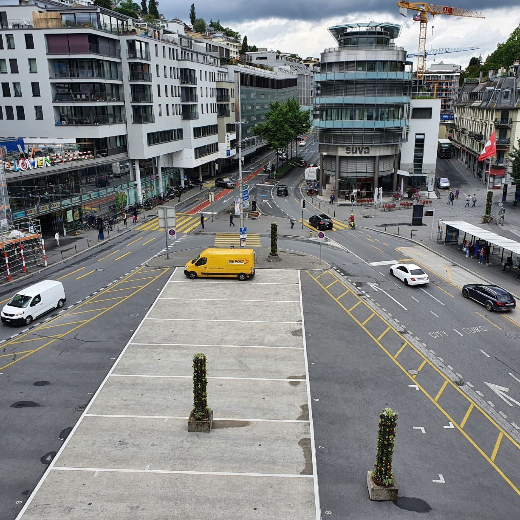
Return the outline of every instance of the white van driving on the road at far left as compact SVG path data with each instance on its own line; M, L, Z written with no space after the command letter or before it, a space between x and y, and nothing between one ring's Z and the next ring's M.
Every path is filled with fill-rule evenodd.
M30 325L32 320L49 310L60 309L66 301L61 282L43 280L16 293L4 306L0 317L2 323Z

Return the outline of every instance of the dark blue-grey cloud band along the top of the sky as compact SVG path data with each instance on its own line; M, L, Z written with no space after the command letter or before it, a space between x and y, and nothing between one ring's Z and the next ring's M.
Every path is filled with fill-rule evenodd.
M160 2L160 10L166 16L177 16L189 23L190 5L194 3L197 17L219 19L224 25L231 22L244 22L262 18L285 18L290 20L314 20L316 22L333 17L353 15L356 12L398 15L399 8L393 0L365 0L363 2L345 2L345 0L181 0L171 3ZM518 0L449 0L446 5L478 11L490 8L511 7L520 11ZM410 16L410 13L408 14Z

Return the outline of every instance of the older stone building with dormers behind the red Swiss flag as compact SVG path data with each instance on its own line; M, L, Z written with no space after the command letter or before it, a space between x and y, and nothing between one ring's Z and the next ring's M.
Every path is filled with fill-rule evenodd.
M455 103L452 123L454 157L483 184L500 188L509 184L511 163L508 154L520 138L520 60L489 79L467 80ZM488 137L495 132L497 154L478 161ZM488 175L490 176L488 180Z

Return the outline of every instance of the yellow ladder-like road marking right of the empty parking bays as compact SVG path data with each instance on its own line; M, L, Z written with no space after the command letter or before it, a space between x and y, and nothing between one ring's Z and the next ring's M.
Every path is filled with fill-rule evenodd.
M315 280L315 278L313 277L313 275L310 274L309 271L306 271L307 275L312 278L313 280ZM333 272L331 272L332 275L334 275ZM492 461L488 455L484 452L484 450L482 448L480 448L480 446L477 445L477 443L463 430L463 426L465 424L465 422L467 421L467 418L469 417L470 413L471 413L471 410L473 408L476 408L480 413L482 413L482 415L493 425L497 428L498 431L502 432L503 435L505 435L505 437L507 437L511 443L517 448L520 450L520 445L516 442L516 440L514 440L507 432L503 431L502 428L495 422L495 420L493 420L482 408L480 408L478 406L478 404L474 404L472 402L472 400L470 399L470 397L468 397L456 384L454 384L452 381L448 380L446 378L446 376L435 366L433 365L432 363L429 363L430 366L441 376L441 378L443 378L445 381L448 381L448 383L451 385L451 387L459 392L459 394L464 398L466 399L467 401L470 402L470 408L468 409L468 411L466 412L466 417L464 418L464 422L461 423L461 424L458 424L457 421L451 417L451 415L443 408L441 407L435 400L434 398L428 394L428 392L417 382L415 381L411 374L408 373L408 370L403 367L389 352L388 350L378 341L375 339L375 337L373 336L373 334L365 327L363 327L360 323L360 321L355 317L353 316L352 314L349 313L349 311L347 310L347 308L339 301L337 301L337 299L334 297L334 295L330 292L330 291L327 291L323 285L315 280L316 283L350 316L350 318L352 318L364 331L365 333L381 348L381 350L389 357L391 358L395 365L397 365L397 367L401 370L401 372L407 377L409 378L410 380L412 380L415 385L417 385L417 387L419 388L419 390L426 396L427 399L429 399L432 404L434 406L437 407L437 409L446 417L446 419L448 419L448 421L452 422L454 425L456 425L457 427L457 430L459 430L459 432L464 436L464 438L480 453L480 455L482 455L482 457L484 457L484 459L486 459L486 461L493 467L493 469L495 469L495 471L505 480L506 483L509 484L509 486L511 486L511 488L517 493L518 496L520 496L520 489L518 489L512 482L511 480L509 479L509 477L507 475L505 475L505 473L495 464L494 461ZM344 287L346 288L347 285L344 284L343 282L341 282ZM354 294L354 293L353 293ZM354 294L354 296L356 296L358 298L358 300L360 300L360 298ZM365 306L369 307L370 306L366 303L366 302L363 302L363 301L359 301L359 303L363 303ZM381 319L381 321L385 322L385 320L381 317L379 317ZM386 323L386 322L385 322ZM405 337L402 336L402 334L400 334L395 328L393 327L389 327L391 328L396 334L398 337L400 337L402 340L406 341L405 340ZM424 359L424 356L421 354L421 352L415 348L413 345L410 345L410 348L412 348L412 350L414 350L415 353L417 353L420 357L422 357Z

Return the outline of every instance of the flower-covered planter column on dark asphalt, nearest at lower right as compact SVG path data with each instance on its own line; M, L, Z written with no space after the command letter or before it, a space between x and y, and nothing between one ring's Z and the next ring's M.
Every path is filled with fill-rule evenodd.
M370 500L397 500L398 488L392 471L397 413L385 408L379 416L378 451L375 469L367 473Z

